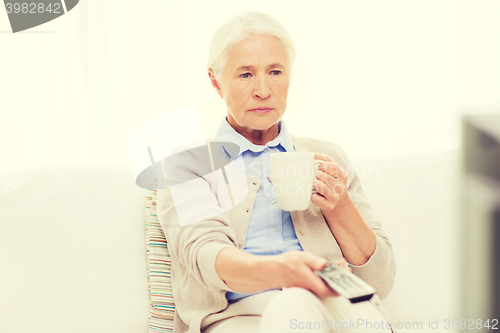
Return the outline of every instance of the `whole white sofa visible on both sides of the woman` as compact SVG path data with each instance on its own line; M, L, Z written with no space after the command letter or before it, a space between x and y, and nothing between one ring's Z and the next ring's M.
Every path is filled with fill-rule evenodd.
M460 150L352 164L396 255L392 322L457 319ZM150 332L150 191L129 167L0 174L0 332Z

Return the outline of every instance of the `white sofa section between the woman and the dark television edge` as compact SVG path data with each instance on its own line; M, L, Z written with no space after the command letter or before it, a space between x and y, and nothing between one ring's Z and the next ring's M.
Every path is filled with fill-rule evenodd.
M460 150L352 162L396 256L392 320L459 318Z

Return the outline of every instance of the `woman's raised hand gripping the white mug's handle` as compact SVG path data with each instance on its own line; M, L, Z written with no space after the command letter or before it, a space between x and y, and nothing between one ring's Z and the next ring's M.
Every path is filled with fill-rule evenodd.
M331 213L351 200L347 190L347 172L327 155L316 153L314 158L324 162L319 165L313 182L313 188L319 194L314 193L311 202L321 208L323 214Z

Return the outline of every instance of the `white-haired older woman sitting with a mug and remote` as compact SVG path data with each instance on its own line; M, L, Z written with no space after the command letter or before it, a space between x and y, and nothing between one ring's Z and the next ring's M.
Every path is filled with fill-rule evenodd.
M225 153L244 163L248 178L241 186L248 191L233 207L220 174L218 180L216 173L199 174L197 189L183 191L176 204L211 217L183 227L172 190L158 191L172 257L175 333L392 330L380 299L394 283L394 254L358 175L338 145L296 137L282 119L293 61L289 34L263 13L234 17L213 37L208 75L227 108L215 140L240 147ZM315 152L323 161L305 211L276 204L270 154L285 151ZM340 297L314 273L329 261L377 294L356 304Z

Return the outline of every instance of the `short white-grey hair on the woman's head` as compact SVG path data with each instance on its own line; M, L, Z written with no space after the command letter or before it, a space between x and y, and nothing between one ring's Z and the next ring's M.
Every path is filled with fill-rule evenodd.
M271 35L277 37L288 54L289 71L295 61L292 37L275 18L262 12L244 12L224 23L212 37L207 68L219 81L231 49L248 35Z

